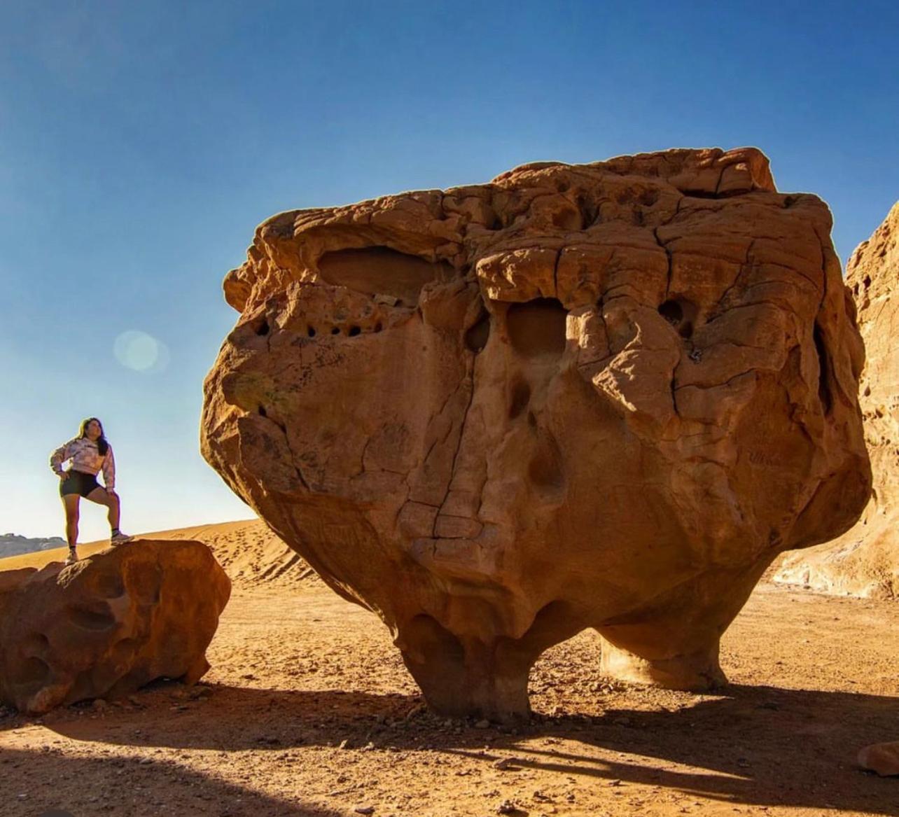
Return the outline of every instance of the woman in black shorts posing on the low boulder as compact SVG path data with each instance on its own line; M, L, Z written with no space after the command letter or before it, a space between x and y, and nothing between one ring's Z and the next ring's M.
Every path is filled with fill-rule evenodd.
M72 466L66 471L63 470L63 463L68 460L72 460ZM103 427L96 417L88 417L81 424L81 433L50 455L50 467L61 480L59 495L66 508L66 564L78 561L78 505L82 497L109 508L112 545L129 540L130 537L119 529L119 494L113 490L115 459L112 457L112 447L103 436ZM105 488L97 482L97 474L101 468Z

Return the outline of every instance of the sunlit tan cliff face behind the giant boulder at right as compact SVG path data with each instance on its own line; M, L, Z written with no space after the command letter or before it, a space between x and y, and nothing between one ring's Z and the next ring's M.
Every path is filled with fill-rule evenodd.
M867 360L859 387L874 493L859 523L827 545L790 554L775 581L817 591L899 598L899 202L850 258Z

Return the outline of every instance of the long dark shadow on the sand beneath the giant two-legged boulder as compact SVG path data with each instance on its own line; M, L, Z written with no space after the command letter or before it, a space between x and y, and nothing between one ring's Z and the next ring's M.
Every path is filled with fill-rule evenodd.
M150 690L138 712L46 725L78 741L147 748L284 751L346 741L351 750L370 742L375 751L438 752L462 765L512 756L582 785L668 787L734 805L895 814L899 803L895 779L855 765L862 745L899 739L895 697L732 686L675 711L537 715L512 731L448 724L406 695L213 686L208 700L179 705L173 689Z

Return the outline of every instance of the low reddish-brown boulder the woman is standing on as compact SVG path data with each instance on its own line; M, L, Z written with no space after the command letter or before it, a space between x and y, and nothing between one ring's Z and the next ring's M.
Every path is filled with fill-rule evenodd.
M0 573L0 700L23 712L193 683L231 582L200 542L138 539Z

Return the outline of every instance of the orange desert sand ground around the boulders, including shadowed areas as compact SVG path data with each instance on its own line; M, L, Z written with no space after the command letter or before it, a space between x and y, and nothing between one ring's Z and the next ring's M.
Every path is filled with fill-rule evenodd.
M205 541L234 582L212 669L40 719L0 710L4 817L899 813L899 779L856 765L899 738L895 602L762 582L722 639L720 694L604 678L585 631L540 657L535 715L512 728L430 715L387 628L261 522L152 536Z

